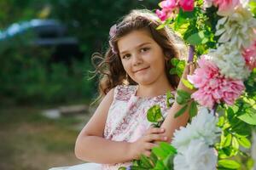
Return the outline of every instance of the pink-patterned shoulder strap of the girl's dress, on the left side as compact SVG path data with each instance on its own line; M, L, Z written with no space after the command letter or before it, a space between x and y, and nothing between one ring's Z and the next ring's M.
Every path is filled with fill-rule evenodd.
M114 88L114 99L129 100L136 92L136 85L118 85Z

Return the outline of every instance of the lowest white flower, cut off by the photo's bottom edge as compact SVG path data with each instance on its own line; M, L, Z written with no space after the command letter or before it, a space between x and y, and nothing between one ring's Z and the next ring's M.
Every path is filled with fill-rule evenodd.
M200 139L192 140L183 154L174 157L174 170L215 170L217 154Z

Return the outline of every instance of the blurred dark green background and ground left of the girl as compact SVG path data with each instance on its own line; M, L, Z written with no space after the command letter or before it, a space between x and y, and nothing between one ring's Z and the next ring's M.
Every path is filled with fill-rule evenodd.
M90 105L91 54L108 47L108 31L134 8L156 0L0 1L0 169L47 169L79 161L73 146L93 110L51 119L60 105ZM46 20L46 21L45 21ZM48 24L47 24L48 23Z

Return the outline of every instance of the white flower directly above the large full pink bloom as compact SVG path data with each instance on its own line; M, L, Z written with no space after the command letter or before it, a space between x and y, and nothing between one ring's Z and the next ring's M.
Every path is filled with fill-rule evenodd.
M206 58L211 59L225 77L243 80L250 75L241 52L229 42L212 50Z

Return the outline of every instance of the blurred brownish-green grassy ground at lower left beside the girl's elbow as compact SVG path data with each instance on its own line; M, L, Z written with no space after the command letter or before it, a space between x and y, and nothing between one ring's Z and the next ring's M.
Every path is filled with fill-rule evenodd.
M82 163L73 154L77 127L84 120L65 116L51 120L38 108L0 108L0 169L45 170Z

